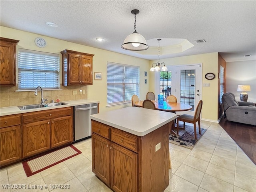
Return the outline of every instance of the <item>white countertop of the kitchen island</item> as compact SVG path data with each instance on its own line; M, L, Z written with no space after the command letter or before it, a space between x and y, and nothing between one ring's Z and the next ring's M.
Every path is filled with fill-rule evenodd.
M144 136L176 118L171 112L126 107L122 109L100 112L90 116L103 124L118 128L128 133Z

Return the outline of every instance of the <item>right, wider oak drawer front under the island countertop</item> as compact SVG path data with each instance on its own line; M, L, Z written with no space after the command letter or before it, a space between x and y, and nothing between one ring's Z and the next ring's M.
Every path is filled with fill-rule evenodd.
M111 128L111 141L137 152L138 137L130 133Z

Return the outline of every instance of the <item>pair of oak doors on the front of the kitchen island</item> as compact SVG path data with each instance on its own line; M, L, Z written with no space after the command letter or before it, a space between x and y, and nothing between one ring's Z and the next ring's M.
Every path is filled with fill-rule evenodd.
M137 154L92 133L92 171L114 191L137 191Z

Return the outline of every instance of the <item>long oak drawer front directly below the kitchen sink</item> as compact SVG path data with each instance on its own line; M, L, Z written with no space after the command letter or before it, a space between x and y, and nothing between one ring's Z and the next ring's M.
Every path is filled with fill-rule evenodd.
M65 107L59 109L30 112L22 115L22 123L28 123L33 121L41 121L49 118L62 117L72 114L72 107Z

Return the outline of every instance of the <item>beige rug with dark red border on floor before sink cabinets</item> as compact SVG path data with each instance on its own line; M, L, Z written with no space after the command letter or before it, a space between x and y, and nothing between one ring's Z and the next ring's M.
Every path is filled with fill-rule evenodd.
M73 145L22 162L26 175L32 176L82 152Z

